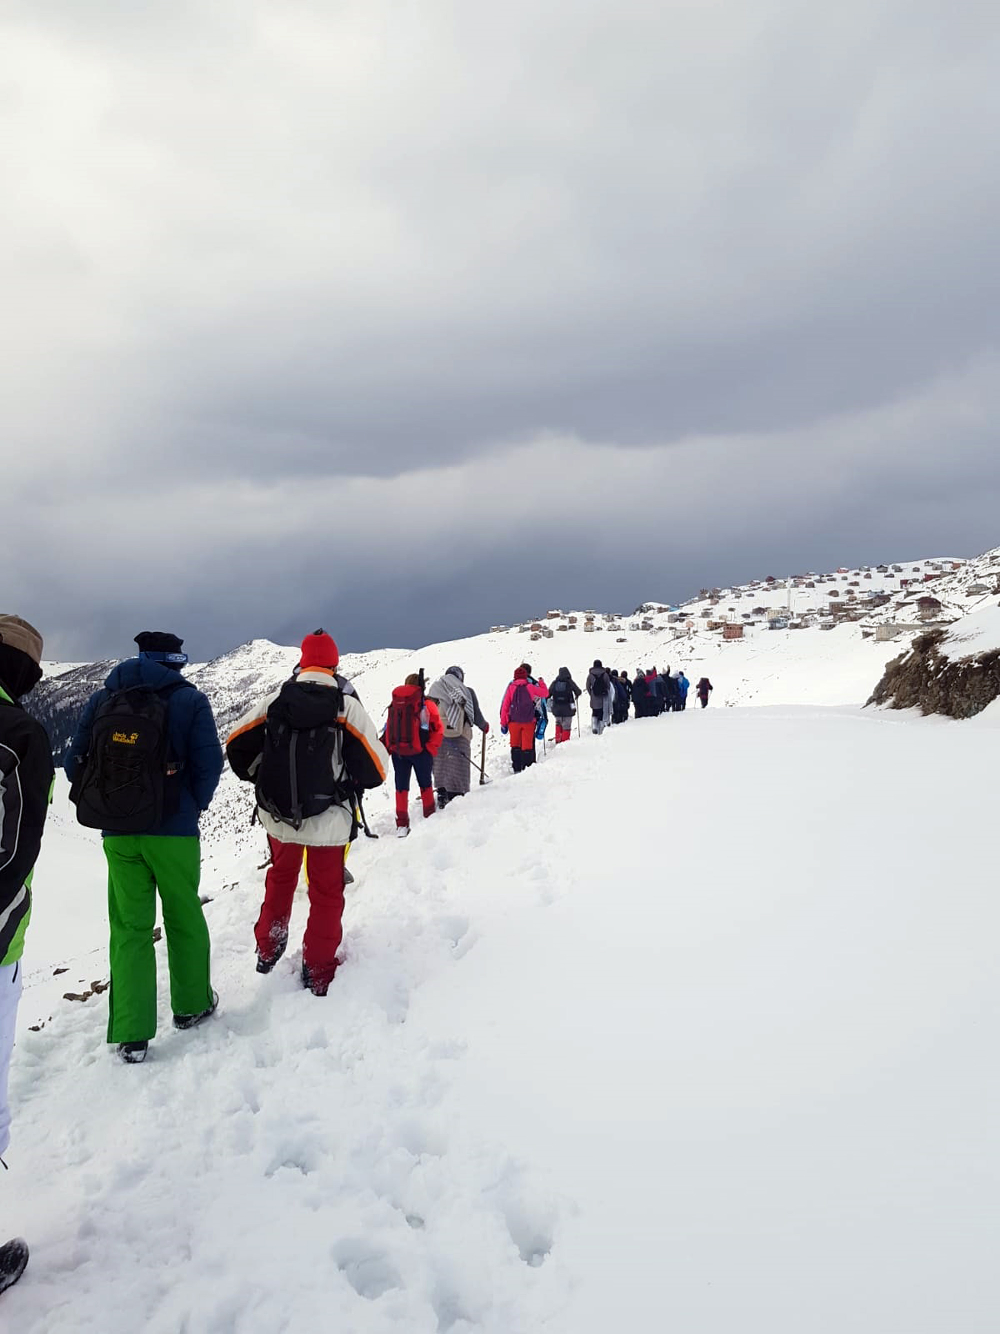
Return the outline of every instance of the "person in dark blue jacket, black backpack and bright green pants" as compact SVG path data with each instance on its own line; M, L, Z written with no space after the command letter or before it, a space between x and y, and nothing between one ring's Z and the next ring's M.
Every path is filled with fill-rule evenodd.
M171 972L175 1029L193 1029L219 1005L199 898L199 818L223 772L212 706L181 676L184 640L163 630L135 639L88 700L65 772L76 818L104 835L111 922L108 1042L128 1065L156 1035L156 891Z

